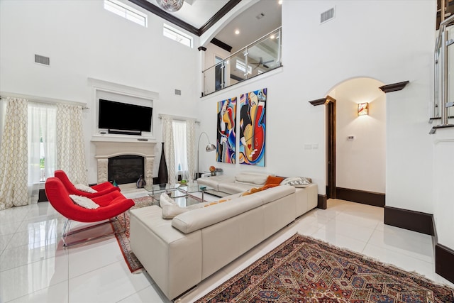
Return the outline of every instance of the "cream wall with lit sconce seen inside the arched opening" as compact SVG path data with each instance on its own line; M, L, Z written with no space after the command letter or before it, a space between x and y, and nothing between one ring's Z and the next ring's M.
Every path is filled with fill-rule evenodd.
M357 78L329 92L336 99L336 187L386 192L386 96L378 89L382 85ZM358 103L365 102L369 115L358 116Z

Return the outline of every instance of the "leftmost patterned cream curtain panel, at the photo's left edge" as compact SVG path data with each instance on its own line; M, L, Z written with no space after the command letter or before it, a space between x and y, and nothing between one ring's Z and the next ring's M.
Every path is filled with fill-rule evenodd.
M28 205L28 142L26 99L6 98L0 148L0 209Z

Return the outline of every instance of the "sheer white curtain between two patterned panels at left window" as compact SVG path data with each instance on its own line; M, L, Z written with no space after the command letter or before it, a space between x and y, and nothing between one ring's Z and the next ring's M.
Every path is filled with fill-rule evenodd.
M40 182L55 172L55 114L55 104L28 102L28 196L31 201L38 201Z

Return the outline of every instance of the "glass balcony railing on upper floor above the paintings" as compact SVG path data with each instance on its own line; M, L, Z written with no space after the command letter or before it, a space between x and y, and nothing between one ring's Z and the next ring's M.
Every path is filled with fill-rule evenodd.
M279 27L204 70L202 95L206 96L280 67L281 37L282 28Z

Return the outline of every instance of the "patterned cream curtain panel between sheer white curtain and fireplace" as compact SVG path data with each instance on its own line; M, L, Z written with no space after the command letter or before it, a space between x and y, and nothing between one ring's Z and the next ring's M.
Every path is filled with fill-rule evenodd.
M56 162L73 183L87 184L82 106L57 104Z

